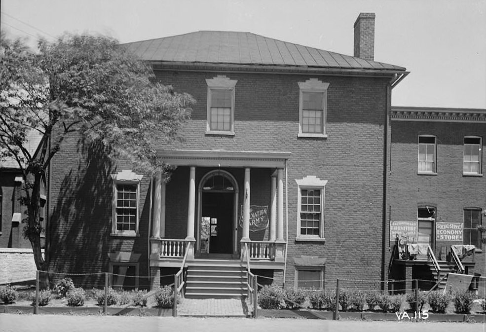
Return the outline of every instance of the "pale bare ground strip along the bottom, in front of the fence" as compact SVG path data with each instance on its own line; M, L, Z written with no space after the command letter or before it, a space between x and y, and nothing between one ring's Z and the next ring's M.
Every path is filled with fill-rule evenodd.
M2 332L486 332L486 323L364 322L311 319L125 317L0 314Z

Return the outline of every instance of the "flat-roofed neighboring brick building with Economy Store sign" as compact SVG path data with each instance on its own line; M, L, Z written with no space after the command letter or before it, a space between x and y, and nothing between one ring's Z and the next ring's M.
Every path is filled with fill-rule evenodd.
M448 265L456 268L453 260L448 263L452 245L474 245L475 264L473 256L467 256L462 259L464 267L470 274L486 274L486 248L477 228L485 225L485 133L484 109L392 108L390 222L407 223L409 237L415 234L409 242L430 245L445 271ZM391 249L393 233L388 231ZM406 265L398 262L390 276L427 276L419 261Z

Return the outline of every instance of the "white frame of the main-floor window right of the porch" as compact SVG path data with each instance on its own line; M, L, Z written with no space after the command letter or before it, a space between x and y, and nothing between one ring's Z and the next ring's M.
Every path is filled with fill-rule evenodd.
M326 184L328 183L327 180L321 180L314 175L308 175L302 179L297 179L297 235L296 241L319 241L324 242L326 241L324 237L324 212L325 212L325 205L324 205L324 196L326 192ZM319 235L302 235L300 234L300 213L301 213L301 204L302 204L302 189L310 189L310 190L320 190L321 191L321 220L319 221Z

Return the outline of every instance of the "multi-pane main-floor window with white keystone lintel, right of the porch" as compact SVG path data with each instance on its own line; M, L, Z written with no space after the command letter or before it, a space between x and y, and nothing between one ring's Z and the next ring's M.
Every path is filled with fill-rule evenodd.
M298 184L298 229L296 240L324 240L324 193L327 180L307 176Z

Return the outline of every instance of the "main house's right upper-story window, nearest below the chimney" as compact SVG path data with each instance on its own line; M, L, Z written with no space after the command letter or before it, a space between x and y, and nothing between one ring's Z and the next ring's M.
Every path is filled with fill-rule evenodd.
M317 78L298 82L299 137L327 137L327 89L329 83Z

